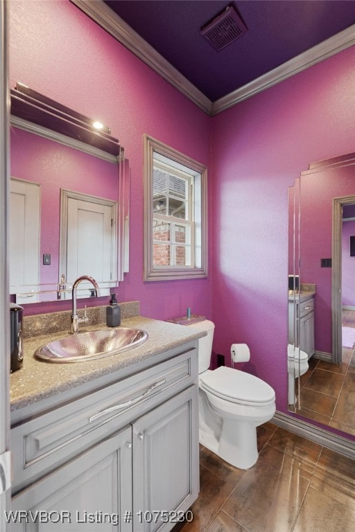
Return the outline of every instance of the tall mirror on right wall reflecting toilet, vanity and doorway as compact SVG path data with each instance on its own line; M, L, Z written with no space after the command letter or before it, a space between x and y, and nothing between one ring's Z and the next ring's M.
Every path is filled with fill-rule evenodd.
M288 220L288 407L355 435L355 154L311 163Z

